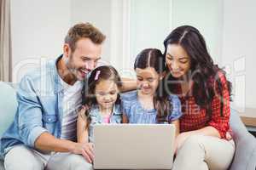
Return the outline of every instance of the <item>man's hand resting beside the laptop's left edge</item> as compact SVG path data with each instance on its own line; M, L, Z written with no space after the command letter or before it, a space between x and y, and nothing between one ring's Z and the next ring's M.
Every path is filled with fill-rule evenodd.
M85 160L89 163L92 163L94 159L94 150L92 143L76 143L72 152L74 154L80 154L84 156Z

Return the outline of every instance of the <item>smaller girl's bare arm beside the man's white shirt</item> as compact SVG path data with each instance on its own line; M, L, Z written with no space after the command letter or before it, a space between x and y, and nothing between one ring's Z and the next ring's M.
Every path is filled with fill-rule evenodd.
M88 143L88 126L87 119L84 115L85 108L79 111L78 122L77 122L77 139L78 143Z

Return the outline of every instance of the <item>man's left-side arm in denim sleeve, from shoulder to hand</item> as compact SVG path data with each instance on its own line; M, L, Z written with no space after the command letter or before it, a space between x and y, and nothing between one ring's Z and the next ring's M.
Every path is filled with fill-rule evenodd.
M22 142L39 150L72 152L81 154L91 162L93 150L91 144L78 144L69 140L56 139L43 127L42 105L38 99L38 90L31 77L24 77L17 90L19 133Z

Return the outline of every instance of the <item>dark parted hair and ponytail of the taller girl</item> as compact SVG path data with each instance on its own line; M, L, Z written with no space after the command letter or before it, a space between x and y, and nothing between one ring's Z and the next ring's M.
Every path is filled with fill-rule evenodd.
M146 69L152 67L158 74L163 74L165 70L164 58L164 55L159 49L146 48L137 55L134 70L137 68ZM170 101L168 95L164 93L161 84L163 84L163 82L160 80L160 84L153 98L154 108L157 111L157 122L168 122L168 116L172 113L172 101Z

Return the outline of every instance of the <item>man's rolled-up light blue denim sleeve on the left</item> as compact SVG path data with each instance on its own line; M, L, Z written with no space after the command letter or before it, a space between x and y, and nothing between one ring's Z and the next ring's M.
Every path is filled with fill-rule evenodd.
M42 106L38 91L30 77L24 77L17 90L19 133L22 142L32 148L38 137L47 131L42 122Z

